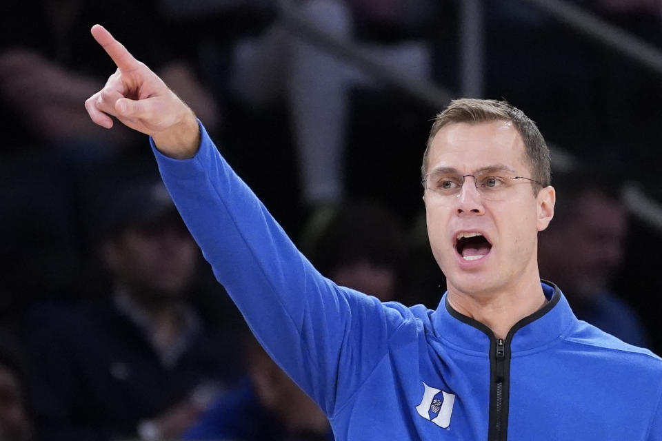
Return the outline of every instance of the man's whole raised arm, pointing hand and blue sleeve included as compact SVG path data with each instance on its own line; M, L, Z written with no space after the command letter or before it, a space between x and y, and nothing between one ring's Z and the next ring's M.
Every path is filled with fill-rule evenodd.
M97 25L92 34L118 69L88 99L90 116L108 128L114 116L152 136L165 186L217 280L270 356L332 415L388 353L410 312L321 276L188 106L108 31Z

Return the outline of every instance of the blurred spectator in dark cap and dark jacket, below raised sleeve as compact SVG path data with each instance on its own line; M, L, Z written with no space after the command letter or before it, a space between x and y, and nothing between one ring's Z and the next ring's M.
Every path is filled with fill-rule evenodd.
M199 251L168 192L126 169L94 222L112 295L90 287L90 305L32 314L40 440L178 438L241 367L192 307Z

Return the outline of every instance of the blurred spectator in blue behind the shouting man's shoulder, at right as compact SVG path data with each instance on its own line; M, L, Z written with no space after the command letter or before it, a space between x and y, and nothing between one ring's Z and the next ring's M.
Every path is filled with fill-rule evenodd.
M554 220L539 236L542 278L554 280L576 316L632 345L648 347L639 318L610 290L623 261L628 215L613 174L554 176Z

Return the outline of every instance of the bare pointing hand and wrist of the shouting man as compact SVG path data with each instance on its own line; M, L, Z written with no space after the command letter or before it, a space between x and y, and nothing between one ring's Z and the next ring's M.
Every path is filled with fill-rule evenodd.
M92 36L117 65L103 89L85 107L94 123L110 129L111 116L127 127L152 136L157 149L171 158L192 158L200 143L193 111L144 63L101 25Z

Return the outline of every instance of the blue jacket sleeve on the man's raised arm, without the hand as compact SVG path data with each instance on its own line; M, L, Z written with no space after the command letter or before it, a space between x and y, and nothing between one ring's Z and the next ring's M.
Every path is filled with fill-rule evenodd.
M332 416L385 356L408 310L321 276L200 127L194 158L163 156L152 141L165 186L257 339Z

